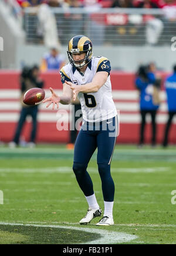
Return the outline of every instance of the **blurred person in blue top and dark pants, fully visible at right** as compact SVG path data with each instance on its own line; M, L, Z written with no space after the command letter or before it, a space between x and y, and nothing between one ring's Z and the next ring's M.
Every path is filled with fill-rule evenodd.
M145 129L145 116L147 113L151 115L152 124L152 138L151 146L155 146L156 123L155 117L159 104L153 101L153 92L155 87L155 74L153 71L148 70L147 67L141 65L138 68L136 76L136 88L140 91L140 113L141 113L141 126L140 126L140 142L139 146L144 144L144 129Z

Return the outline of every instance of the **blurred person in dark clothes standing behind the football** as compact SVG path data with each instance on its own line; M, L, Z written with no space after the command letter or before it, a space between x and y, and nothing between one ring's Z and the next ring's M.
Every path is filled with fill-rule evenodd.
M18 126L16 127L15 135L13 141L9 143L9 147L15 147L19 144L19 137L22 132L23 124L26 121L27 116L32 117L32 130L31 137L28 146L35 146L36 132L37 132L37 114L38 114L38 105L28 106L23 103L23 95L25 92L31 88L42 88L43 81L39 77L39 67L34 65L32 68L24 67L21 73L21 114L18 121Z

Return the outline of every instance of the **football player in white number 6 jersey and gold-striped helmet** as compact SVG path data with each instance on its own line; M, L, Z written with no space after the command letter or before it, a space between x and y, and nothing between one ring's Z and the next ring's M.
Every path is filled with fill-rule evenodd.
M83 123L75 142L73 172L89 205L80 224L87 224L102 213L87 172L97 149L104 214L96 225L113 225L114 182L110 163L117 137L117 110L111 94L110 61L106 57L93 57L92 41L84 35L76 35L69 41L67 54L70 63L60 70L63 94L57 96L50 88L52 96L43 103L49 101L46 107L53 104L55 109L59 108L59 102L69 104L79 97Z

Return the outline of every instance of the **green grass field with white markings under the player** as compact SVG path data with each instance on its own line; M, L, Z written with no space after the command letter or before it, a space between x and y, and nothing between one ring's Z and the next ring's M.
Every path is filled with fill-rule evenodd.
M87 202L65 145L0 147L0 244L176 244L176 148L116 146L114 226L79 225ZM96 154L87 169L104 208Z

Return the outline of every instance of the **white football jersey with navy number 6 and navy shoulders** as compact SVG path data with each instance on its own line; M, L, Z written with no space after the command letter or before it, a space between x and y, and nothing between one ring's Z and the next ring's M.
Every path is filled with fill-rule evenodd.
M60 74L62 83L66 80L75 84L87 84L92 82L97 72L107 71L110 74L110 69L110 61L107 58L93 57L84 74L81 74L70 63L60 70ZM110 76L96 93L79 93L78 98L82 106L83 119L86 122L101 122L117 115L111 94Z

